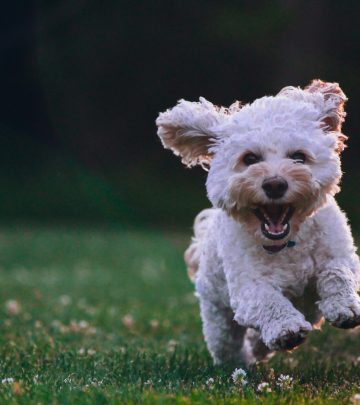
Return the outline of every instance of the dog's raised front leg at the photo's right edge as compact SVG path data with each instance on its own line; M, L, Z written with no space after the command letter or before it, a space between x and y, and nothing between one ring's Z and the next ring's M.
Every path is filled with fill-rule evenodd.
M356 259L356 258L354 258ZM356 264L356 263L355 263ZM319 309L325 319L338 328L360 325L358 280L351 263L332 260L318 275Z

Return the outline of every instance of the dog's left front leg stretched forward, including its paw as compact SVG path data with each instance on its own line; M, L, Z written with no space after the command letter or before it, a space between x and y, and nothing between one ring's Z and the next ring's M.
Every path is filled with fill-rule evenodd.
M302 343L311 324L279 289L267 283L248 282L231 294L235 320L258 329L271 350L289 350Z

